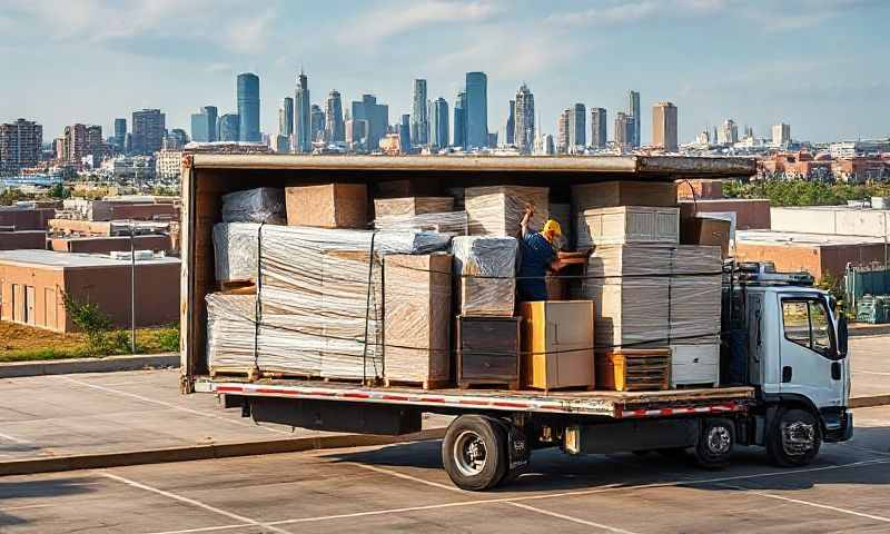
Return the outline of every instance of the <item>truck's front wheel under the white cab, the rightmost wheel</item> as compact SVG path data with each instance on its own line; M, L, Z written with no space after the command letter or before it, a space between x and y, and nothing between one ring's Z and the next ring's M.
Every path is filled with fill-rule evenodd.
M821 425L807 409L779 411L767 435L767 455L780 467L810 465L821 446Z

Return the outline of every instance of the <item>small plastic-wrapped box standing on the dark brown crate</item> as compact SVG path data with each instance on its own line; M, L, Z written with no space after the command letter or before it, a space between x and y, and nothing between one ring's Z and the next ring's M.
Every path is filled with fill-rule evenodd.
M516 298L513 237L461 236L452 240L461 315L512 317Z

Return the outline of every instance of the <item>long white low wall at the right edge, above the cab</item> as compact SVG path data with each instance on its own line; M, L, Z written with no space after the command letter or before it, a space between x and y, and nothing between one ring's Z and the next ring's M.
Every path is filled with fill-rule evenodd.
M810 234L883 237L890 210L853 208L772 208L772 229Z

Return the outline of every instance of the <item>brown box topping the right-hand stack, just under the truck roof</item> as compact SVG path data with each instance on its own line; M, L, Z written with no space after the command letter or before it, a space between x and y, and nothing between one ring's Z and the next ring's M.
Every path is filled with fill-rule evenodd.
M603 181L572 186L575 212L615 206L675 207L676 185L660 181Z

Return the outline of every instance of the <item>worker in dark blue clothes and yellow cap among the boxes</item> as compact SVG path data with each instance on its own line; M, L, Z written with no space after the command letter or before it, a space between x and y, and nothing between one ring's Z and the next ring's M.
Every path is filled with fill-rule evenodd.
M560 270L564 267L556 254L556 243L562 238L562 228L554 219L548 219L541 231L528 228L532 216L535 214L533 206L525 207L522 218L520 238L520 273L516 286L521 301L547 299L547 285L545 277L547 268Z

